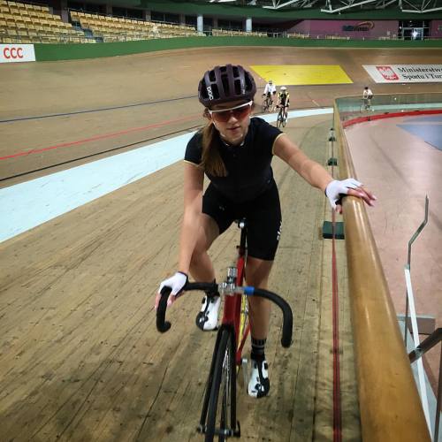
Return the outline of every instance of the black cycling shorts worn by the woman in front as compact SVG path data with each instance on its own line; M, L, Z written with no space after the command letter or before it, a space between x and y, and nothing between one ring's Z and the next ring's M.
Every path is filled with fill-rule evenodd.
M245 217L248 221L248 255L273 261L281 234L281 206L278 187L271 187L249 202L235 203L210 184L202 197L202 213L212 217L219 233L225 232L233 221Z

